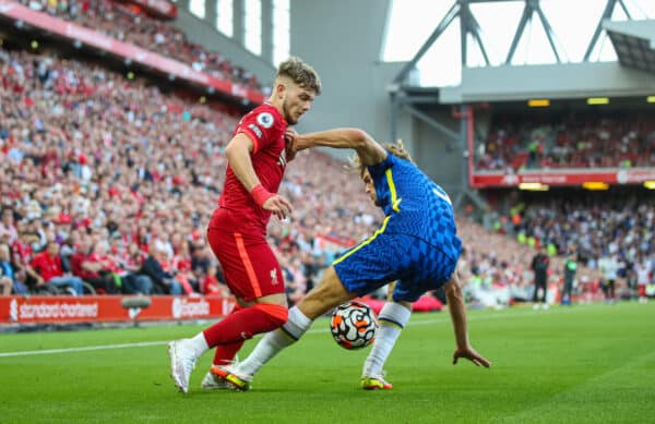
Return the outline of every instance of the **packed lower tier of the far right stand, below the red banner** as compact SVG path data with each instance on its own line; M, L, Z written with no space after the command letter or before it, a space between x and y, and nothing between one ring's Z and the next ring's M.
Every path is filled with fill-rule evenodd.
M580 290L588 293L603 289L607 279L604 271L610 262L616 263L619 295L633 299L639 290L643 291L640 284L648 286L652 293L655 197L651 191L640 186L514 191L505 194L505 199L508 213L496 214L487 222L491 233L511 239L510 244L546 246L552 256L551 268L560 274L561 261L573 253ZM502 245L498 241L489 243Z

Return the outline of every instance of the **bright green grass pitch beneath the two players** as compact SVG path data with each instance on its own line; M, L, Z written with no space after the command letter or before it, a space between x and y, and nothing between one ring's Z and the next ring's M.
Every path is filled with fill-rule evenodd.
M655 302L473 311L474 347L493 362L485 370L451 365L448 313L415 314L386 364L394 389L374 392L359 388L368 349L338 348L326 319L249 392L202 391L211 354L188 395L174 389L163 341L202 326L0 335L0 422L654 422L653 323ZM2 356L147 341L155 344Z

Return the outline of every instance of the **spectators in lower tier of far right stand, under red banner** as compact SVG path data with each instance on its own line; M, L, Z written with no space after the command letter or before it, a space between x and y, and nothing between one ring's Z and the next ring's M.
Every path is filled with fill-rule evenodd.
M652 286L655 267L655 198L639 190L540 196L517 205L507 220L521 243L547 246L551 255L573 252L602 283L614 280L631 296ZM640 287L642 287L640 289ZM652 290L650 288L648 290ZM655 294L655 293L653 293Z

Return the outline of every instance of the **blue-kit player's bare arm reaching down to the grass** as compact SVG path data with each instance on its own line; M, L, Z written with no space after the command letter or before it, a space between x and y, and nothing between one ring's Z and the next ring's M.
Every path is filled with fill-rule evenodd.
M476 352L468 342L466 306L464 305L464 294L462 293L460 278L456 272L453 275L453 278L445 283L444 289L457 343L457 349L455 349L455 352L453 353L453 364L456 364L460 358L465 358L477 366L483 365L488 368L491 363Z

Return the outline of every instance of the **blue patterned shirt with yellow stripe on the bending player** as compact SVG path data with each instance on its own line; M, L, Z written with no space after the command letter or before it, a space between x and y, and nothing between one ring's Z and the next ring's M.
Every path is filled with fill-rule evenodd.
M424 240L456 261L462 241L456 235L453 206L448 194L408 160L389 154L368 167L378 205L384 210L384 233Z

